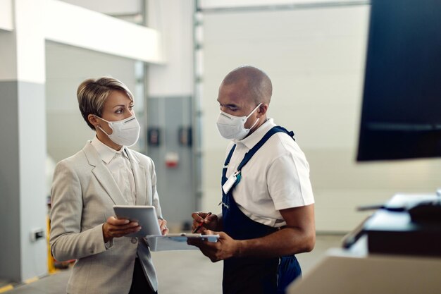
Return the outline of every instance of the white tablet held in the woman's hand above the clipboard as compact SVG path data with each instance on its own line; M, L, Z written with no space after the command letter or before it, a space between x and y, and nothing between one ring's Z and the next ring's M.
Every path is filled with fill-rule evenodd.
M127 235L128 237L145 237L146 235L161 235L158 215L153 206L142 205L113 205L118 219L130 219L137 221L141 230Z

